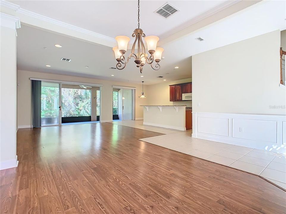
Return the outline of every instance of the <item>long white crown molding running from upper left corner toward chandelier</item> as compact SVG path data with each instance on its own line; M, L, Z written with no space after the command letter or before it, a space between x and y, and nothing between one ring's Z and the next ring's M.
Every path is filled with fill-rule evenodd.
M54 25L57 25L57 26L61 26L61 27L67 28L67 29L71 29L71 30L74 30L74 31L77 31L77 32L80 32L80 33L84 33L84 34L96 37L98 39L102 39L102 40L106 40L108 42L116 43L116 40L114 38L107 37L107 36L104 36L102 34L99 34L99 33L96 33L96 32L93 32L93 31L90 31L90 30L87 30L87 29L83 29L83 28L80 28L80 27L77 27L77 26L74 26L74 25L62 22L62 21L58 21L56 19L52 19L52 18L49 18L47 16L40 15L38 13L29 11L29 10L25 10L25 9L21 8L19 5L10 3L8 1L1 0L0 1L0 5L1 5L1 7L10 8L12 10L15 10L15 12L17 12L19 14L26 15L26 16L38 19L40 21L45 21L45 22L48 22L48 23L51 23L51 24L54 24Z

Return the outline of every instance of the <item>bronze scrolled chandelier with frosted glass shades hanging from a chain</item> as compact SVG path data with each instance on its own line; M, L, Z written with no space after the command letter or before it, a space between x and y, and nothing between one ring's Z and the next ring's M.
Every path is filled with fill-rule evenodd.
M143 30L140 29L140 1L138 0L138 28L134 30L132 37L135 37L135 41L132 45L131 54L127 57L125 61L124 54L127 51L127 45L130 41L127 36L117 36L115 40L118 43L117 47L112 48L115 53L115 59L118 62L116 64L116 68L118 70L122 70L125 68L126 64L129 62L131 57L134 57L134 62L137 64L136 67L140 68L140 73L142 73L143 66L145 63L150 64L154 70L160 69L160 60L162 56L163 48L157 47L157 42L159 41L159 37L157 36L147 36L143 33ZM142 37L145 38L145 42L147 43L147 48L150 56L146 53L146 49L142 40ZM136 44L137 43L137 44ZM137 53L135 53L135 47L137 46ZM156 62L153 65L153 62Z

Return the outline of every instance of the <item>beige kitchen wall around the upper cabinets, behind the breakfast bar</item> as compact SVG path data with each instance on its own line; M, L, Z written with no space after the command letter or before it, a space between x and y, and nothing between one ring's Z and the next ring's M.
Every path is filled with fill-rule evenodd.
M191 81L192 78L188 78L171 82L164 81L160 84L144 86L144 94L147 97L146 100L148 105L186 105L188 107L191 107L192 101L170 102L170 87L169 87L169 85L191 82Z

